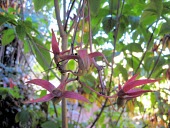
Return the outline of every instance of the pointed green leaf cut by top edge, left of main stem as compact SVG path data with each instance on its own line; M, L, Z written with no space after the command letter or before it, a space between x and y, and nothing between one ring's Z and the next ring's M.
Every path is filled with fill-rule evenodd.
M34 8L35 11L39 11L40 9L42 9L45 5L47 5L50 0L33 0L34 2Z

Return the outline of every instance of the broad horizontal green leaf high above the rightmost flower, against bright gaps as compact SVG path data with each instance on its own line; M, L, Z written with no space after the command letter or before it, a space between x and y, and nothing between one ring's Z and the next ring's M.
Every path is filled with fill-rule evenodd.
M125 47L125 49L130 52L143 52L143 49L139 43L130 43Z

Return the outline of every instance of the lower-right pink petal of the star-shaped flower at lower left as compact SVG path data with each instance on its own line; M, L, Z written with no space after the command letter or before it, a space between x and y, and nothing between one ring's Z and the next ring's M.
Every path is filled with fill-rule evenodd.
M82 96L78 93L75 93L75 92L71 92L71 91L65 91L64 94L63 94L63 97L71 98L71 99L77 99L77 100L81 100L81 101L89 103L89 100L86 99L84 96Z

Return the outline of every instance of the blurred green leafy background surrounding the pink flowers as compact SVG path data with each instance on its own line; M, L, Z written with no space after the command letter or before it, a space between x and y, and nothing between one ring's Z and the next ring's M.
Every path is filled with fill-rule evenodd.
M1 0L0 127L170 127L169 17L168 0ZM110 103L72 82L67 90L82 94L91 104L70 99L23 104L47 94L26 81L42 78L57 86L62 76L49 52L51 29L62 50L66 42L68 48L74 44L106 56L111 67L96 58L104 66L105 95L116 94L118 85L134 74L160 79L142 86L154 92L118 109L116 98ZM76 67L69 61L66 68ZM97 70L81 76L81 81L101 91Z

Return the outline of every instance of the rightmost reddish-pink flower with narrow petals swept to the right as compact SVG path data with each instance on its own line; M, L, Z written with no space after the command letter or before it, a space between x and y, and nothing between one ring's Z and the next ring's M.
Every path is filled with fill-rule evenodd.
M140 88L134 88L139 85L154 83L157 80L141 79L136 80L138 74L130 78L123 87L119 85L119 91L117 93L117 105L118 108L122 107L127 100L141 96L143 93L152 92L152 90L143 90Z

